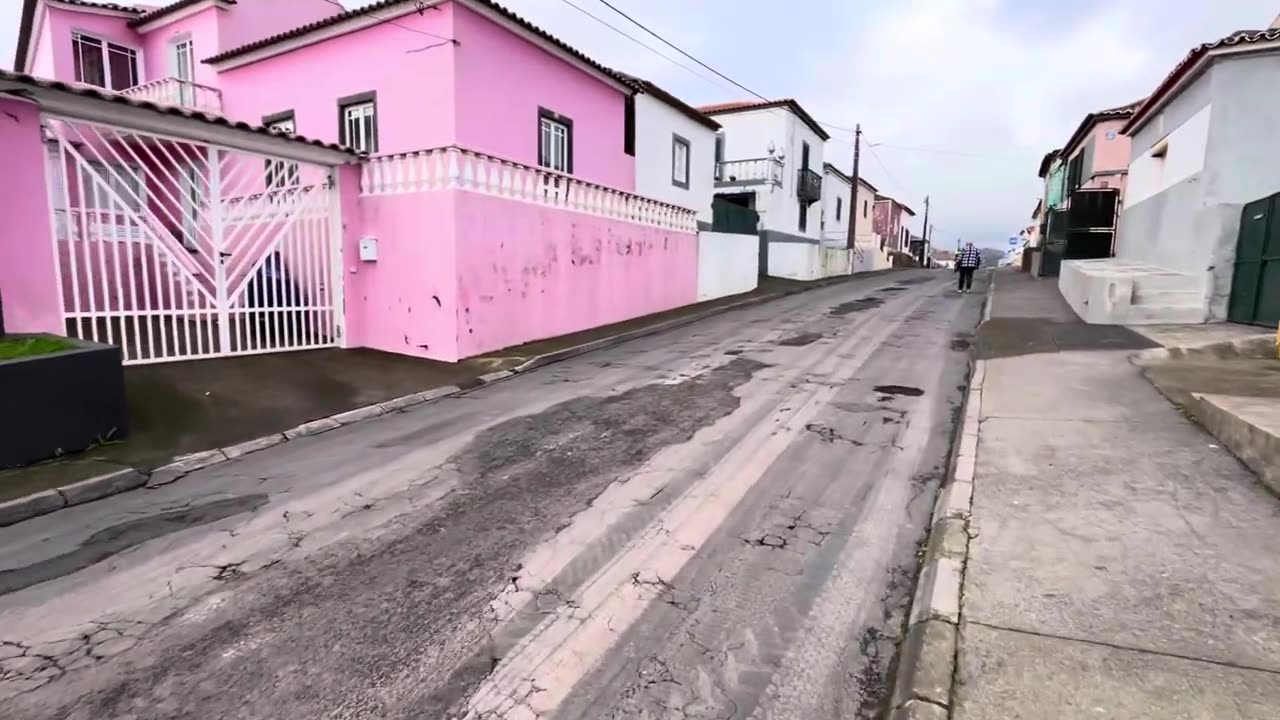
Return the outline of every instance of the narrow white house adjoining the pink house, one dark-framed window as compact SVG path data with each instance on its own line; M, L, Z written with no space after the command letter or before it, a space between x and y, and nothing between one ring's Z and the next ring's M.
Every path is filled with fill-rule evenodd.
M636 193L696 210L699 225L709 228L721 124L657 85L631 79L636 95L627 141L636 158Z

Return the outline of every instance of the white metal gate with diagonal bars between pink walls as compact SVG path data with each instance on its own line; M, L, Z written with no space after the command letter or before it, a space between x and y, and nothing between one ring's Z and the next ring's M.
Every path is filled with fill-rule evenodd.
M67 333L161 363L339 343L334 169L45 117Z

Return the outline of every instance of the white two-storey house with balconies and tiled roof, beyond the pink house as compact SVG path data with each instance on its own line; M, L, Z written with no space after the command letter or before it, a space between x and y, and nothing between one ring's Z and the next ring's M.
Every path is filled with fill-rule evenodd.
M822 252L827 131L795 100L699 108L723 126L716 143L716 196L760 215L760 269L813 279L847 274L847 251Z

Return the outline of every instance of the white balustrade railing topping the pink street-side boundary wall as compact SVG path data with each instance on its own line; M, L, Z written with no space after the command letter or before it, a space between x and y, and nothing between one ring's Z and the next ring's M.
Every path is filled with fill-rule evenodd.
M466 190L603 218L698 232L698 214L631 192L462 147L372 158L361 168L361 195Z

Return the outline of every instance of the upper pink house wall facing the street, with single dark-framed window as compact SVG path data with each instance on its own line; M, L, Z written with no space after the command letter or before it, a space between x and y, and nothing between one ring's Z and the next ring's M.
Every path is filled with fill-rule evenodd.
M635 158L623 152L626 94L454 5L457 142L538 165L539 106L573 120L573 174L635 190Z

